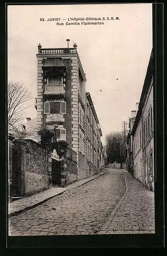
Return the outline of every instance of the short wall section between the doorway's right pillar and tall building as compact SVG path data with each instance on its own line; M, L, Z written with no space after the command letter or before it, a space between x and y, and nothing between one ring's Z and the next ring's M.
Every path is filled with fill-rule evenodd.
M70 158L66 159L66 185L77 181L77 163Z

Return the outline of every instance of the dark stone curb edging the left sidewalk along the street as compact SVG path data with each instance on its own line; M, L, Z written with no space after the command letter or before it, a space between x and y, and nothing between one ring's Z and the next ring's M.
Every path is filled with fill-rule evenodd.
M108 169L106 170L106 172L107 172L107 171L108 171ZM68 191L68 190L71 190L71 189L80 187L80 186L82 186L82 185L84 185L84 184L86 184L86 183L88 183L88 182L90 182L90 181L92 181L92 180L94 180L94 179L96 179L96 178L102 176L103 174L106 174L106 172L104 172L104 173L102 173L102 174L100 174L100 175L98 175L98 176L96 176L96 177L93 177L93 178L90 179L90 180L87 180L86 182L82 183L81 185L78 185L78 186L73 187L73 188L68 188L68 187L67 187L67 189L65 188L64 191L61 191L61 192L59 192L59 193L56 194L56 195L50 196L50 197L48 197L48 198L46 198L46 199L44 199L44 200L42 200L42 201L40 201L40 202L37 202L37 203L35 203L35 204L25 206L25 207L22 208L22 209L15 210L15 211L11 212L8 216L9 216L9 217L12 217L12 216L15 216L15 215L20 214L20 213L23 212L23 211L33 209L33 208L35 208L36 206L39 206L39 205L45 203L46 201L48 201L48 200L50 200L50 199L52 199L52 198L54 198L54 197L56 197L56 196L60 196L60 195L63 194L65 191Z

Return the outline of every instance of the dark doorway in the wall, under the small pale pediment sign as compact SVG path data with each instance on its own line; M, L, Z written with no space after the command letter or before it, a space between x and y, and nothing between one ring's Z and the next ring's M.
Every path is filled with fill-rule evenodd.
M61 162L52 159L51 177L53 186L61 186Z

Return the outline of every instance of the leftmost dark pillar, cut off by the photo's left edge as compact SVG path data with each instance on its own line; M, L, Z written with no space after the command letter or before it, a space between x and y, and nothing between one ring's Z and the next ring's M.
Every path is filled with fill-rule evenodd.
M14 136L8 134L8 199L12 202L12 156Z

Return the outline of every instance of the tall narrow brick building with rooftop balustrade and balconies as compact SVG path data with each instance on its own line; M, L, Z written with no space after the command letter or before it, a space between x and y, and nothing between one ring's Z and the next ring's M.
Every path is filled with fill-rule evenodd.
M66 141L76 152L78 180L87 178L101 170L103 152L77 45L69 48L69 39L66 48L43 49L39 44L37 62L37 129L54 129L57 140Z

